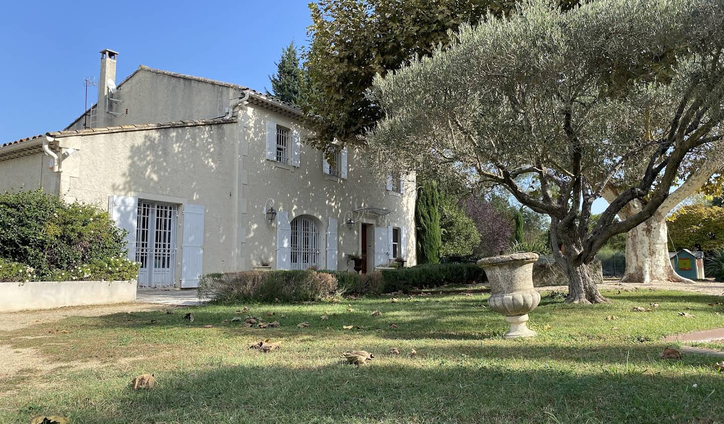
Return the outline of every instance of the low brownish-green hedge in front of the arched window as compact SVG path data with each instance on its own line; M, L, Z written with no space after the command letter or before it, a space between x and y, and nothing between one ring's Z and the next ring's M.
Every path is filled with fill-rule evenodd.
M334 294L337 278L330 273L303 271L241 271L203 275L198 295L214 302L311 301Z

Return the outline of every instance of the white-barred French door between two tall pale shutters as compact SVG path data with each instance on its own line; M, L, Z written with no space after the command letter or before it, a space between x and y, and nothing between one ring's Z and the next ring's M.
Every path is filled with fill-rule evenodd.
M174 286L176 205L138 200L136 262L138 287Z

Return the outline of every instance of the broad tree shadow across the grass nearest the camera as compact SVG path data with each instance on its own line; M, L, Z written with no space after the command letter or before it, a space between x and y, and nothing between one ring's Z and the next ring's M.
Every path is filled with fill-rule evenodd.
M151 391L135 392L124 380L109 378L93 402L54 403L83 399L83 387L63 396L38 394L32 402L87 424L713 423L724 416L715 373L572 373L401 357L380 357L363 367L332 357L313 367L279 365L292 354L258 354L253 365L156 373Z

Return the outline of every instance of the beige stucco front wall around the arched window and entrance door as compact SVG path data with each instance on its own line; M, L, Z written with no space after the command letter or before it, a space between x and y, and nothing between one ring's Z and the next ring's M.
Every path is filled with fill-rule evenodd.
M244 246L241 250L246 263L258 265L261 259L275 265L277 247L277 228L275 223L264 219L264 204L274 199L274 208L286 211L289 218L311 215L318 220L321 233L321 267L329 268L326 263L327 226L329 217L338 221L338 264L337 269L352 269L345 254L361 252L361 223L373 223L378 226L392 225L405 228L405 256L407 265L416 264L415 254L415 181L408 180L405 195L385 189L385 183L361 165L363 152L349 150L348 178L333 178L324 174L322 153L311 146L302 144L300 167L279 166L277 162L266 159L266 122L277 122L292 130L298 129L302 138L308 132L295 120L251 105L243 109L240 125L243 126L243 171L248 175L248 183L243 185L244 209L248 211L242 218L246 227ZM345 213L360 207L379 207L393 212L384 218L364 216L353 230L345 226ZM355 220L358 215L355 214ZM370 252L371 253L371 252Z

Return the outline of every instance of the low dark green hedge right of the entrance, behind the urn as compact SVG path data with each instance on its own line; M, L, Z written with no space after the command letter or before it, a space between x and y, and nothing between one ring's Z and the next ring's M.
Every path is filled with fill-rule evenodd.
M413 288L434 288L444 284L473 284L484 280L483 269L474 263L425 264L382 270L382 289L385 293Z

